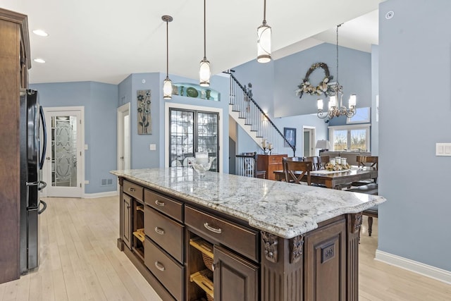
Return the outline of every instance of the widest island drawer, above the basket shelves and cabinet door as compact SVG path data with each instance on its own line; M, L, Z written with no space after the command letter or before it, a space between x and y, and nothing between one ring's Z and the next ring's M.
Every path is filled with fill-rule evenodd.
M185 224L222 245L258 261L258 232L192 207L185 207Z

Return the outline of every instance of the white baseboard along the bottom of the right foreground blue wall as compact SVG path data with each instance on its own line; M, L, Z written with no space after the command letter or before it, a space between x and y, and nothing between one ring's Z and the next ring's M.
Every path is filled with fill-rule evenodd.
M415 262L414 260L379 250L376 250L375 259L379 262L385 262L385 264L398 266L402 269L413 271L416 274L421 274L430 278L434 278L438 281L451 284L451 271L439 269L435 266L429 266L428 264L422 264L421 262Z

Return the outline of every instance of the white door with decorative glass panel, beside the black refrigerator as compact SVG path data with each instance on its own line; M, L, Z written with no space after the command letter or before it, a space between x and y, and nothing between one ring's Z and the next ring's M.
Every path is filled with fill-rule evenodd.
M47 152L43 178L48 197L83 197L83 107L45 108Z

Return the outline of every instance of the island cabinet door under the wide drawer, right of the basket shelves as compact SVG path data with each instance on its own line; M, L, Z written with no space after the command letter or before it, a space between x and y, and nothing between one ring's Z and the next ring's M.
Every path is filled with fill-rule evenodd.
M214 300L259 300L259 267L214 246Z

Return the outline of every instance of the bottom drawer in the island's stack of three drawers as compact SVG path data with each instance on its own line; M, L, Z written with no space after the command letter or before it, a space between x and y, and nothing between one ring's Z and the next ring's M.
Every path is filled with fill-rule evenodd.
M183 266L164 254L149 238L144 240L144 264L175 299L183 300Z

